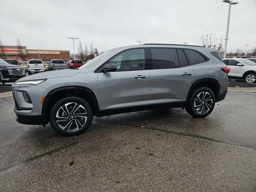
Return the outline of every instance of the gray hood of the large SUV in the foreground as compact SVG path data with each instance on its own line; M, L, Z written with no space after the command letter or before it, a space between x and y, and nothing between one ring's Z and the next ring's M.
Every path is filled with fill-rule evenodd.
M58 77L70 77L77 75L81 70L80 69L62 69L62 70L54 70L41 72L34 75L26 76L17 80L19 81L28 81L28 80L36 80L36 79L50 79L50 78L58 78Z

